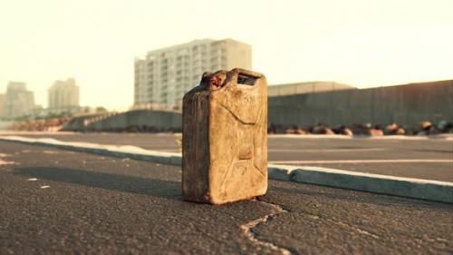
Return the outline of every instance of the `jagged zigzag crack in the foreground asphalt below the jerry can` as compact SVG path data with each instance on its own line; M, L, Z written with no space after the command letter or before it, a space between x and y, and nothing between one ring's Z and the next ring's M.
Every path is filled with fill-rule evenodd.
M259 201L259 200L256 200L256 201L262 202L262 203L264 203L264 204L266 204L268 206L273 207L276 210L276 212L267 214L267 215L265 215L265 216L263 216L261 218L258 218L256 220L246 222L245 224L241 225L241 230L244 232L244 234L246 235L248 240L250 240L251 242L253 242L253 243L255 243L255 244L259 245L259 246L263 246L263 247L269 248L270 250L279 252L280 254L284 254L284 255L291 254L290 250L286 250L286 249L284 249L282 247L278 247L277 245L275 245L272 242L268 242L268 241L264 241L264 240L258 240L257 237L256 237L256 233L253 230L259 224L262 224L262 223L265 223L266 221L268 221L269 218L274 218L278 214L287 213L288 211L284 210L282 208L282 206L280 206L278 204L275 204L275 203L270 203L270 202L266 202L266 201Z

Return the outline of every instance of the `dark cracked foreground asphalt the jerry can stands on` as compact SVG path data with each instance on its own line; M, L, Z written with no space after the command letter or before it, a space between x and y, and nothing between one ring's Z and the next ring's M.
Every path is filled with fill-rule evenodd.
M0 142L0 254L453 253L453 204L269 181L258 200L212 206L182 201L180 175Z

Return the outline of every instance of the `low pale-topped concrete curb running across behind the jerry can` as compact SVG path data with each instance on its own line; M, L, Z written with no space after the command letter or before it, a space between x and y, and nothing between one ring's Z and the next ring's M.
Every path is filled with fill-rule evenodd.
M180 153L156 152L134 146L112 146L87 142L61 142L54 139L34 139L0 136L0 140L22 142L76 152L127 157L134 160L181 165ZM331 186L356 191L369 191L428 201L453 203L453 182L401 178L388 175L349 172L313 166L268 165L270 179Z

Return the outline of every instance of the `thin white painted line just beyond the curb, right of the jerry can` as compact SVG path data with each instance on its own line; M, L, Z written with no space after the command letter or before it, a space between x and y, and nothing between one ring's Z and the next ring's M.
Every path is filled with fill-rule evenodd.
M335 164L335 163L449 163L453 160L408 159L408 160L340 160L340 161L274 161L272 164Z

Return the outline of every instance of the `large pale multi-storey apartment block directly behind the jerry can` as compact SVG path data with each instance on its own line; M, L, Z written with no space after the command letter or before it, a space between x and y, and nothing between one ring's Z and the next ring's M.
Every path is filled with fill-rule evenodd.
M135 60L134 105L178 106L204 72L252 68L252 46L232 39L195 40Z

